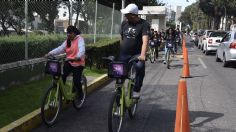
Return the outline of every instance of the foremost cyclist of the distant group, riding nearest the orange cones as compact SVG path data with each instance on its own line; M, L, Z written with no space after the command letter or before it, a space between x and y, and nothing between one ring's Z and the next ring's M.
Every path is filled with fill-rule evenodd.
M165 43L165 60L164 60L164 64L166 64L166 58L167 58L167 47L166 47L166 44L168 42L171 42L173 44L173 48L175 50L175 30L173 28L169 28L167 29L166 31L166 36L164 38L166 40L166 43ZM174 51L173 50L173 51Z

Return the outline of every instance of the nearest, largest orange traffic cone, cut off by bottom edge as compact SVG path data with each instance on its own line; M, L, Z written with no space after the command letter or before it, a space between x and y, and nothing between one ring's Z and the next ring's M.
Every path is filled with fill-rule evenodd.
M190 132L186 80L179 80L175 132Z

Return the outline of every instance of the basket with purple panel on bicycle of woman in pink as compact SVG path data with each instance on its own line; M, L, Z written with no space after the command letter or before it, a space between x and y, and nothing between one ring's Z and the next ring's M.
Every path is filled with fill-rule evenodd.
M47 61L45 67L45 73L54 76L61 75L61 63L58 61Z

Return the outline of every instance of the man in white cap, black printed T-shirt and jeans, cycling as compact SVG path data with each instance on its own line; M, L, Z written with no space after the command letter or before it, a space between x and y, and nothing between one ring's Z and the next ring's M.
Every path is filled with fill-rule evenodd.
M138 17L138 6L129 4L121 9L126 19L121 24L120 61L128 62L134 55L139 55L135 62L136 77L133 88L133 98L140 97L140 90L145 76L145 55L150 34L149 23Z

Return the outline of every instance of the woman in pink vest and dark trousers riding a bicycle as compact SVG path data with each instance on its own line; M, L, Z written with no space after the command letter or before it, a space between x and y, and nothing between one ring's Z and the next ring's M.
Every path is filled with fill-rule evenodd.
M66 53L67 59L74 61L65 62L63 67L62 80L66 83L66 78L70 73L73 73L73 83L79 93L79 98L83 99L81 75L85 66L85 44L84 38L80 35L80 31L75 26L68 26L67 39L57 48L53 49L45 55L58 55ZM73 88L73 90L75 90Z

